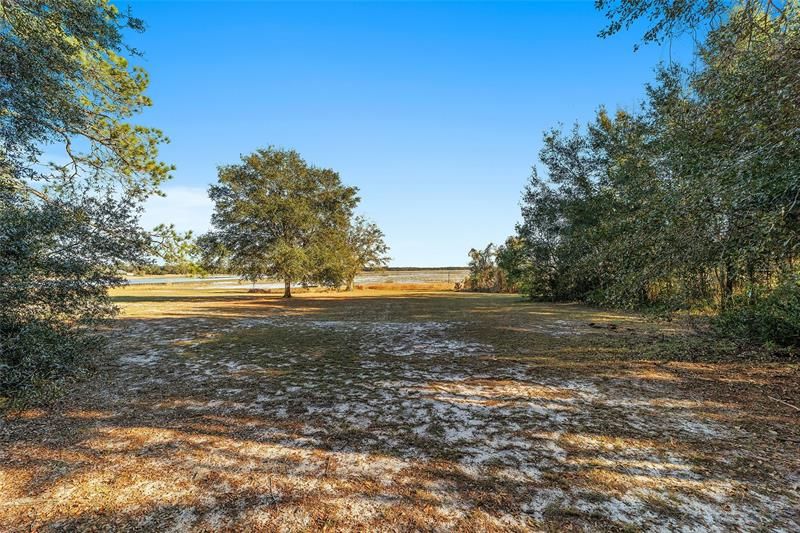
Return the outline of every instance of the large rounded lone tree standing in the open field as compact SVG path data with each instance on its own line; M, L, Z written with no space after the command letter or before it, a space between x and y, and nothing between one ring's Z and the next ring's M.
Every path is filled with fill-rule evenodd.
M294 150L257 150L220 167L219 183L209 188L210 239L227 250L233 272L253 282L281 279L289 298L292 283L341 281L342 269L330 267L330 258L343 253L356 193Z

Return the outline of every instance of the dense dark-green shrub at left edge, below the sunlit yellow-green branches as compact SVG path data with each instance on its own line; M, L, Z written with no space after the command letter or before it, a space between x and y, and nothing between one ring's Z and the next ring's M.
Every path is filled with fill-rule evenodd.
M147 236L115 199L31 205L0 186L0 403L48 396L87 368L100 347L92 326L112 316L119 258ZM102 227L102 233L94 228Z

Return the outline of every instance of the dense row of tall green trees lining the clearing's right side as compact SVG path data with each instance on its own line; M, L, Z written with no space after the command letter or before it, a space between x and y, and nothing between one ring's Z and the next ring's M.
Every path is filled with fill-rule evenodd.
M636 110L544 134L500 246L468 285L538 300L710 312L737 338L800 345L800 19L796 2L599 0L608 36L710 31L661 65Z

